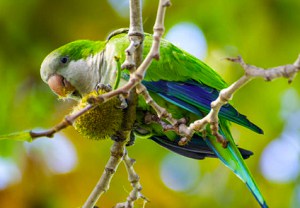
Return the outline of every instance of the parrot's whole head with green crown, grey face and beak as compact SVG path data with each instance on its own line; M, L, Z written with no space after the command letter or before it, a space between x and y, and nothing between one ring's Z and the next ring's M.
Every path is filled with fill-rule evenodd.
M78 40L51 52L41 65L41 77L61 98L79 100L100 79L97 54L105 42Z

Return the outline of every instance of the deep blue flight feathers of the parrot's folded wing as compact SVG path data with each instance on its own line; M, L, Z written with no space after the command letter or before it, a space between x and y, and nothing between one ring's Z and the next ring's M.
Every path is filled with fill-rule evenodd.
M210 103L219 95L219 91L216 89L193 80L186 82L143 81L143 84L149 91L159 94L167 101L200 117L203 117L204 113L207 114L210 111ZM226 104L221 108L219 116L257 133L263 133L262 129L250 122L245 115L240 114L230 104Z

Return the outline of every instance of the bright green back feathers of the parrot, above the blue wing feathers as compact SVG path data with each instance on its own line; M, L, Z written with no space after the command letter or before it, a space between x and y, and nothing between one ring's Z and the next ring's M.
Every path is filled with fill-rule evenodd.
M152 36L145 34L143 56L145 57L152 45ZM118 34L111 37L108 44L114 44L118 56L125 59L124 50L128 46L127 34ZM162 39L160 47L160 59L154 60L148 68L145 81L181 81L193 79L199 83L221 90L227 86L225 81L212 68Z

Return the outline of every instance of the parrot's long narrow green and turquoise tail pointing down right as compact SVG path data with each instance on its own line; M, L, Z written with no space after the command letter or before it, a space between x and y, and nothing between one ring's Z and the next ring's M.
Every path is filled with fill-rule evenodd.
M229 141L227 148L223 148L222 145L220 145L220 143L218 143L214 138L206 139L208 146L211 147L215 154L229 169L231 169L244 183L246 183L247 187L250 189L260 206L263 208L267 208L268 205L264 200L263 195L261 194L257 184L255 183L249 169L244 163L240 151L238 151L238 148L234 143L234 140L228 128L227 121L220 119L220 124L221 132Z

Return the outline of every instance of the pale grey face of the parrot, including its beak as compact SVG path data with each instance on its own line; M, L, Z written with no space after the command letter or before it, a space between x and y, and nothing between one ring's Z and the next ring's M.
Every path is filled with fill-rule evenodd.
M78 100L91 92L99 80L93 60L90 56L74 61L54 51L42 63L41 77L60 97Z

